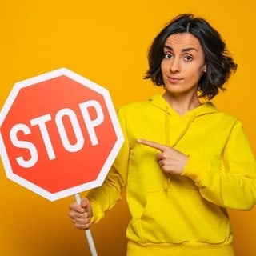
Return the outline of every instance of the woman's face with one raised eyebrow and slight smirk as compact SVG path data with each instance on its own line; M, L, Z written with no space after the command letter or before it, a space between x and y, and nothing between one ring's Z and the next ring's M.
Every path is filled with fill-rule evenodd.
M171 34L164 46L162 78L170 94L197 96L198 81L206 64L198 38L190 33Z

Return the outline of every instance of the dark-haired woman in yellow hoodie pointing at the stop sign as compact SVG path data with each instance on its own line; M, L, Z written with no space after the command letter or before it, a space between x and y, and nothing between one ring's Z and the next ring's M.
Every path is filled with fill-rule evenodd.
M74 225L98 222L126 186L127 255L234 255L226 209L254 206L255 159L241 122L210 99L236 68L206 20L174 18L146 73L165 92L118 110L125 143L103 185L70 205Z

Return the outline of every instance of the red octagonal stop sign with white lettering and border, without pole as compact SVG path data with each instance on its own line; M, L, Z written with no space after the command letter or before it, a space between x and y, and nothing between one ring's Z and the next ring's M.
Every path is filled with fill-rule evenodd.
M6 176L50 201L101 186L122 143L108 90L66 68L15 83L0 113Z

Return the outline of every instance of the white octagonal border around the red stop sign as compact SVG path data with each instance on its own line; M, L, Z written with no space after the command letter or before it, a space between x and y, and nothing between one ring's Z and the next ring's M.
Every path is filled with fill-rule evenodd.
M65 198L70 195L78 194L82 191L93 189L94 187L102 186L102 183L104 182L104 179L106 178L106 175L108 174L110 167L112 166L114 159L116 158L118 151L122 147L122 143L124 142L124 138L122 135L121 127L119 126L118 117L116 114L116 111L114 109L113 102L110 98L110 93L106 88L103 88L102 86L99 86L98 84L91 82L87 78L83 78L81 75L78 75L74 73L71 70L68 70L66 68L61 68L58 70L53 70L45 74L38 75L34 78L29 78L26 80L23 80L22 82L16 82L14 84L13 89L10 91L10 94L8 98L6 99L6 102L4 106L2 107L1 113L0 113L0 127L2 126L2 122L4 122L6 115L8 114L10 107L14 103L15 98L18 95L19 90L22 88L25 88L26 86L32 86L35 83L38 82L45 82L52 78L57 78L59 76L65 75L68 78L73 79L76 82L81 83L82 85L86 86L87 88L90 88L91 90L94 90L98 92L98 94L102 94L103 98L105 99L106 106L109 110L110 119L112 121L112 124L114 126L115 134L117 135L117 141L114 144L114 147L110 151L109 157L106 159L106 162L102 166L102 170L100 174L98 175L98 178L94 182L87 182L86 184L82 184L79 186L74 186L66 190L62 190L57 193L50 193L44 189L42 189L39 186L34 185L34 183L31 183L27 181L25 178L22 178L18 176L17 174L13 173L13 170L10 166L10 161L8 158L8 154L6 152L6 146L3 142L1 130L0 130L0 154L2 157L3 166L6 170L6 176L10 180L17 182L19 185L26 187L27 189L33 191L36 194L41 195L42 197L54 201L58 200L60 198Z

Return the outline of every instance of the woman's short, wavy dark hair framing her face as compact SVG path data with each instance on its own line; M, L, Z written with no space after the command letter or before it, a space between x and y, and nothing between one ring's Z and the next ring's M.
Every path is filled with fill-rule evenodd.
M214 98L219 90L225 90L223 85L231 72L237 69L237 64L228 54L226 43L218 31L204 18L196 18L194 14L178 15L154 38L148 54L149 70L144 78L150 78L156 86L164 86L161 71L164 45L171 34L178 33L193 34L201 43L207 71L198 82L198 91L200 97Z

